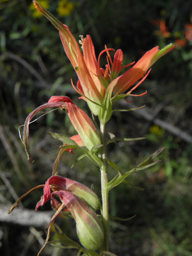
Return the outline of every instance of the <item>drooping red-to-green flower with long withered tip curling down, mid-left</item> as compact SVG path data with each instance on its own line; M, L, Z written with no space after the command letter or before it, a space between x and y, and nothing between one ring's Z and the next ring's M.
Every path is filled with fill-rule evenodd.
M83 110L78 108L72 102L72 100L66 96L52 96L48 103L36 108L26 118L24 124L23 143L25 146L26 154L28 156L28 160L31 160L28 143L30 120L41 110L52 107L60 107L61 109L67 110L68 116L74 128L78 132L80 138L82 139L84 145L88 148L88 150L91 150L94 146L101 144L98 130L94 126L92 120Z

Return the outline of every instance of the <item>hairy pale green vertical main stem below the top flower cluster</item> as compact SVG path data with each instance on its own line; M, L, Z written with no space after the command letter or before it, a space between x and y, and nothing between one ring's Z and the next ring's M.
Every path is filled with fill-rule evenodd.
M105 125L100 124L100 136L102 140L101 148L101 189L102 189L102 222L104 228L104 250L109 251L109 209L108 209L108 177L107 177L107 159L106 159L106 140L105 140Z

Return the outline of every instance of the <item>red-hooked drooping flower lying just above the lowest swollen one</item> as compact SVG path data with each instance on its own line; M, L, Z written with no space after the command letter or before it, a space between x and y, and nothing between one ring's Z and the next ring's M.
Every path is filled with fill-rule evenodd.
M98 210L99 208L101 209L101 204L98 196L92 190L90 190L90 188L88 188L87 186L77 181L54 175L54 176L51 176L46 181L44 186L44 195L41 197L41 200L37 203L36 210L40 206L43 206L50 199L50 196L51 196L50 186L53 186L53 185L54 186L56 185L59 188L59 190L68 190L72 192L74 195L84 200L84 202L86 202L86 204L88 204L88 206L94 211ZM55 205L59 205L59 204L55 203ZM58 210L58 207L56 208L53 207L53 208L55 210Z

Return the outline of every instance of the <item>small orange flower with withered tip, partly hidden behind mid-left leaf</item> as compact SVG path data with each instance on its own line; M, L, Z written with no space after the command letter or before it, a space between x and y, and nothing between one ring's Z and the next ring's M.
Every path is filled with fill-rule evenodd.
M80 147L85 146L85 144L82 141L82 138L79 136L79 134L70 137L70 139L74 140L74 142L76 142L78 144L78 146L80 146ZM63 143L63 146L66 146L66 145L68 145L68 144ZM60 152L59 152L59 154L58 154L58 156L57 156L57 158L54 162L54 165L53 165L52 175L58 175L59 168L60 168L60 163L61 163L61 160L62 160L62 157L63 157L64 153L65 152L70 152L71 154L74 154L73 149L74 148L61 148L60 149Z

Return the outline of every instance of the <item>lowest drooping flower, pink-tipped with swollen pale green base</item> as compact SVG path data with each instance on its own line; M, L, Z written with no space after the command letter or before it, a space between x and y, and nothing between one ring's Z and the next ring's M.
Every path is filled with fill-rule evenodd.
M99 250L102 248L104 231L102 224L96 214L78 196L71 192L60 190L51 195L58 196L62 203L68 208L76 221L76 229L80 242L89 250Z

